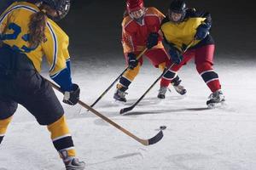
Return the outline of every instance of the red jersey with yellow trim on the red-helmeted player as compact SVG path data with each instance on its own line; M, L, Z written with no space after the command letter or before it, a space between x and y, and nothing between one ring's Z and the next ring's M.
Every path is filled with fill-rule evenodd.
M161 21L165 18L157 8L145 9L142 23L132 20L129 15L122 22L122 44L124 53L142 51L146 48L148 35L151 32L159 32ZM154 48L164 48L161 40Z

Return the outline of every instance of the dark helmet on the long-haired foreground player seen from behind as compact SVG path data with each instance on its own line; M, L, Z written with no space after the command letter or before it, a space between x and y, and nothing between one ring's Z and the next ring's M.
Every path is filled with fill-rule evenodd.
M63 19L70 9L70 0L41 0L41 2L56 10L58 16L54 17L53 20Z

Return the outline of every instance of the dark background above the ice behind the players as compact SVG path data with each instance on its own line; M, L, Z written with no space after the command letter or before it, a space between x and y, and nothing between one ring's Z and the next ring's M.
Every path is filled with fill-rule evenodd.
M11 0L0 0L0 11ZM145 0L145 6L154 6L166 14L171 1ZM254 58L255 12L253 1L190 0L191 8L207 10L212 14L212 36L216 54L230 58ZM116 58L122 55L120 44L121 21L125 10L123 0L73 0L70 13L59 23L70 37L70 52L84 59Z

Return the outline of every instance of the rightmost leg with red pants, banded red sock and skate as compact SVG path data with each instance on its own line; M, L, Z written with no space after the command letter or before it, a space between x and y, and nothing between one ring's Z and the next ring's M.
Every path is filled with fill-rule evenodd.
M210 88L212 94L207 101L207 105L214 105L224 101L224 94L221 91L221 85L218 79L218 74L212 68L214 45L206 45L195 49L195 65L196 70L201 75L207 87Z

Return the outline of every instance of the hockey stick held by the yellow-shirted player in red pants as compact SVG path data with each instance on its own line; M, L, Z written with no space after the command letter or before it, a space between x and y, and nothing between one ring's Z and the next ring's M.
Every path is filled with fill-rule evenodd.
M193 42L194 42L194 40L189 43L189 45L183 50L182 54L184 54L184 53L189 49L189 47L193 44ZM133 110L133 108L145 97L145 95L148 94L148 92L151 90L151 88L154 87L154 85L156 84L156 82L158 82L158 81L161 79L161 77L163 77L163 76L166 74L166 72L169 71L169 69L172 68L173 65L175 65L175 63L173 63L171 66L169 66L169 67L166 69L166 71L163 71L163 73L160 75L160 77L158 77L158 78L153 82L153 84L147 89L147 91L142 95L142 97L140 97L140 99L137 99L137 101L136 101L133 105L131 105L130 107L125 107L125 108L121 109L121 110L119 111L119 113L120 113L121 115L123 115L125 112Z

